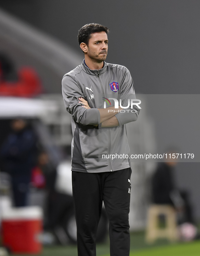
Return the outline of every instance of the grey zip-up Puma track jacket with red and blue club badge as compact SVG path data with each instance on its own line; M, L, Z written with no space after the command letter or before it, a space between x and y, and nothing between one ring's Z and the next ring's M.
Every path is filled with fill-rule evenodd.
M129 155L125 124L137 120L138 107L130 106L126 113L117 113L119 126L109 128L101 127L98 111L104 108L105 101L106 107L114 106L114 100L109 102L108 98L118 102L121 99L122 106L128 106L128 99L135 99L128 69L104 62L102 69L90 70L83 62L64 75L62 93L66 110L72 116L72 171L96 173L129 168L130 159L125 157ZM87 100L91 109L82 107L80 97ZM94 126L97 124L98 127ZM110 159L110 155L115 155L115 159L112 156Z

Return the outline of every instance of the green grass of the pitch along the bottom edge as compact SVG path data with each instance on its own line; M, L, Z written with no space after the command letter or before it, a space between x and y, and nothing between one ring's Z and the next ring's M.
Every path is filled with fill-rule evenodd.
M200 230L200 225L199 225ZM131 233L130 256L200 256L200 241L175 243L161 239L154 244L145 242L145 232ZM76 245L44 247L40 256L77 256ZM109 237L102 244L96 245L96 256L109 256ZM30 256L18 254L18 256Z

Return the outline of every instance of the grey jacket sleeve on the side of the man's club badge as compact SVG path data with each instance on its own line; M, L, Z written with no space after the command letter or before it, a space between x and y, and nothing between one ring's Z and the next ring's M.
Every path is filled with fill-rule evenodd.
M117 113L115 115L119 122L119 125L136 121L140 109L136 105L133 105L133 108L131 109L131 99L136 99L136 97L133 88L133 80L127 68L125 68L122 77L120 99L121 105L125 107L128 105L128 100L130 100L130 106L127 109L124 109L124 113L121 111L120 113Z

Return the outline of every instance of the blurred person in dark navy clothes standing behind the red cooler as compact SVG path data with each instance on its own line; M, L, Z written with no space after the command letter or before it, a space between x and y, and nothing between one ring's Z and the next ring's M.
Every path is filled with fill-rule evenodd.
M15 119L12 132L3 143L0 156L3 170L10 174L14 206L26 206L31 170L36 164L36 136L27 121Z

